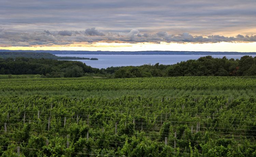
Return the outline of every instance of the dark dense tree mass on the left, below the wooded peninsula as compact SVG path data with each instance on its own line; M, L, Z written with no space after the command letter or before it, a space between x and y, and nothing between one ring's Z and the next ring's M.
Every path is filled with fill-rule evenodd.
M0 74L40 74L46 77L81 77L84 73L97 73L98 71L99 69L91 68L77 61L44 58L0 59Z

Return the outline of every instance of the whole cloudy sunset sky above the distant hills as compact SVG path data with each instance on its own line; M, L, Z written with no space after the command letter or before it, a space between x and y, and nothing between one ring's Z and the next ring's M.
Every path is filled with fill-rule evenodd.
M255 0L0 2L0 49L256 52Z

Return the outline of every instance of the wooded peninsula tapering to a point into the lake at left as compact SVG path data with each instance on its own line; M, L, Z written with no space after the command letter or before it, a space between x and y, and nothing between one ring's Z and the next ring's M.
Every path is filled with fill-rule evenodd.
M1 52L0 58L17 58L17 57L25 57L25 58L45 58L45 59L59 59L59 60L98 60L98 58L85 58L85 57L59 57L51 53L47 52Z

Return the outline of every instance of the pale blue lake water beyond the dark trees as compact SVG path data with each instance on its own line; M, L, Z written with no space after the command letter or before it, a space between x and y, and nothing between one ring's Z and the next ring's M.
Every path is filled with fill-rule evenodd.
M72 54L56 54L56 56L69 57L87 57L98 58L99 60L77 60L85 63L93 68L108 68L120 66L141 66L144 64L176 64L189 59L198 59L207 55L72 55ZM240 59L244 55L211 55L214 58L222 58L226 56L228 59ZM250 55L255 57L256 55Z

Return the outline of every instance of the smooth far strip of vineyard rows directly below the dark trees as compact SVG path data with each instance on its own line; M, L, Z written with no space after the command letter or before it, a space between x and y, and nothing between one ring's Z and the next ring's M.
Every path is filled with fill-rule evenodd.
M256 89L255 76L151 77L123 79L21 78L1 79L0 90L118 90L118 89Z

